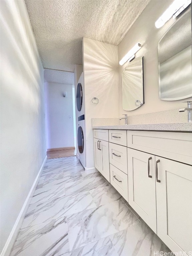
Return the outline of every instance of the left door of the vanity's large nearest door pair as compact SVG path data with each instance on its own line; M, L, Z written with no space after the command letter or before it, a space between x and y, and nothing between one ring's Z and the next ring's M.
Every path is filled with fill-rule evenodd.
M155 156L127 148L129 204L157 233Z

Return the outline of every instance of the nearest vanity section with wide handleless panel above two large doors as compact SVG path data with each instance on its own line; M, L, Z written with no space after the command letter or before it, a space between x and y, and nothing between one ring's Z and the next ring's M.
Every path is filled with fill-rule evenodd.
M190 255L192 134L127 131L127 146L129 204L171 251Z

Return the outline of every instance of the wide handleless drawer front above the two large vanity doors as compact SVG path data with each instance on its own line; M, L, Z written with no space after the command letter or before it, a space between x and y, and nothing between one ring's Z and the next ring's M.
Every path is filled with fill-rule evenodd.
M127 131L127 147L192 165L192 134Z

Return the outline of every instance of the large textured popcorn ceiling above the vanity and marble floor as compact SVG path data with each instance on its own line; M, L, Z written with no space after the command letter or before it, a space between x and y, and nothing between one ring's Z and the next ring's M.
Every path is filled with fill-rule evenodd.
M82 38L118 45L149 0L25 0L45 68L74 71Z

